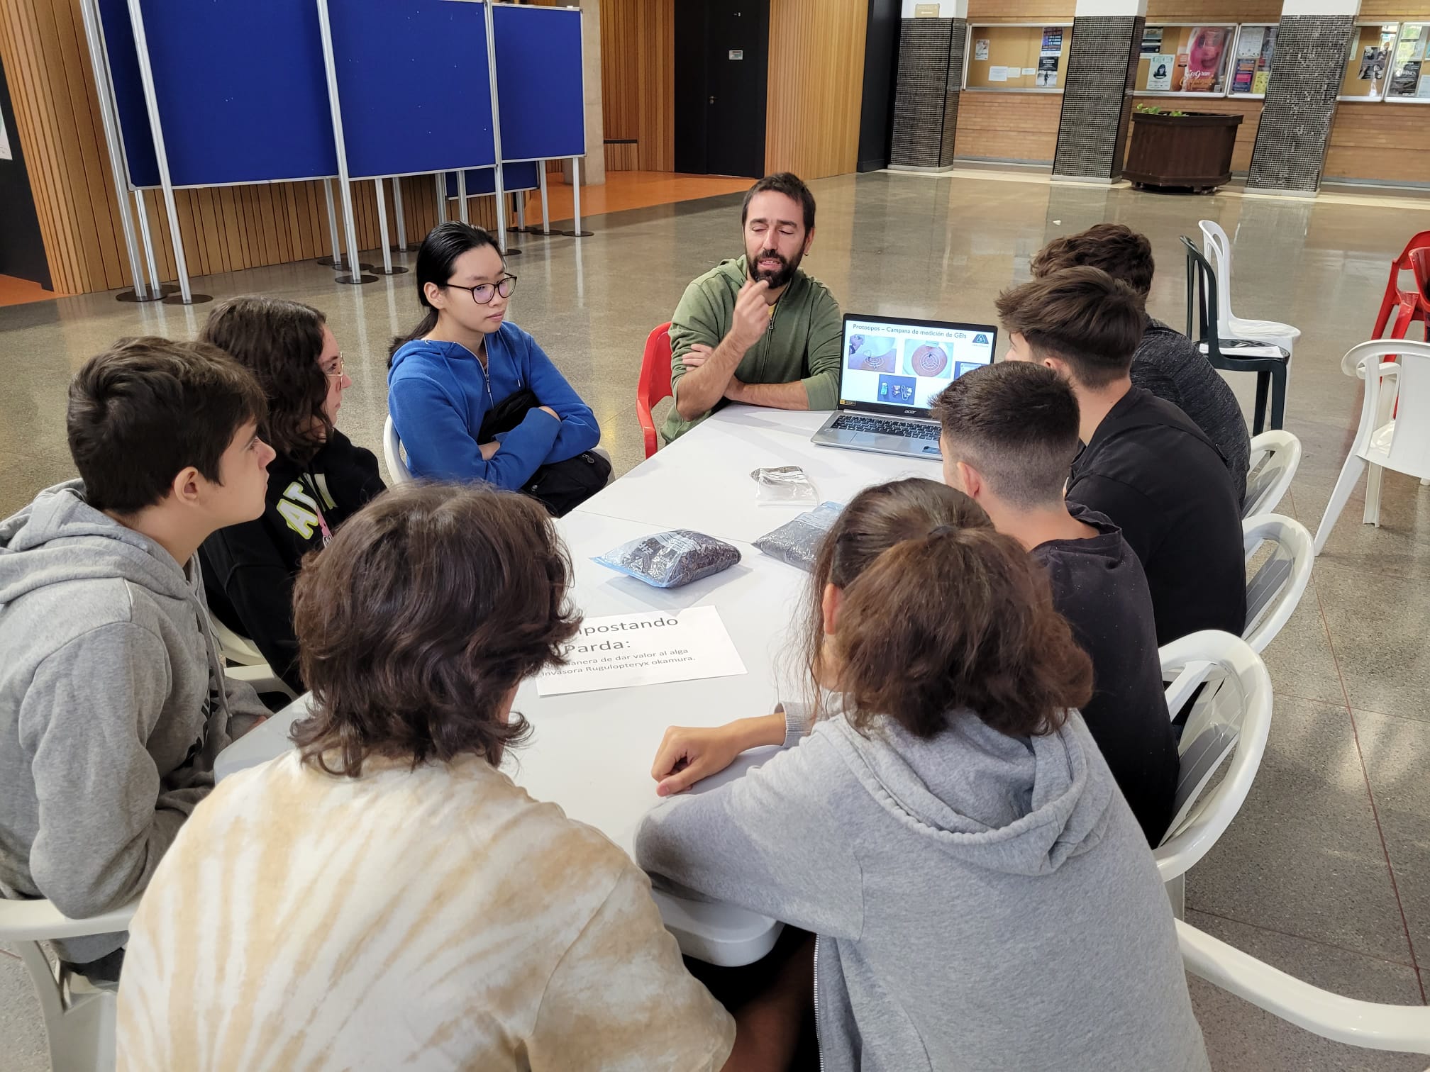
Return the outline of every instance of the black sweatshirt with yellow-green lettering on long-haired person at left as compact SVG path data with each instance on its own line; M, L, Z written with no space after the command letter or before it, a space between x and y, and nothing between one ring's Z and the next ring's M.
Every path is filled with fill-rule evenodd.
M303 680L293 636L293 580L303 556L323 546L319 515L336 532L382 490L376 456L335 429L307 465L286 455L269 463L262 517L219 529L199 547L209 610L253 640L296 692L303 692Z

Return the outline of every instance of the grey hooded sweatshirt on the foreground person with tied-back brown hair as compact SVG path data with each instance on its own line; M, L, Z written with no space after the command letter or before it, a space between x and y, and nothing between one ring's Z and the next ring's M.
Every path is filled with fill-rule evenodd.
M837 715L636 833L652 875L818 935L829 1072L1205 1072L1147 838L1081 716L921 740ZM798 742L798 743L795 743Z

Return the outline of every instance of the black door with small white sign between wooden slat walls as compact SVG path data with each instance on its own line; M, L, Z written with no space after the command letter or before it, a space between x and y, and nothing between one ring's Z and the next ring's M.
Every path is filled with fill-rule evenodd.
M675 6L675 170L765 173L769 0Z

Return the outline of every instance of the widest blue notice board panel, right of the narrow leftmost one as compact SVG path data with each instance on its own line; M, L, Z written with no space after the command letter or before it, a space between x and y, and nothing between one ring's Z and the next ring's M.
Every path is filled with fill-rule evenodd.
M315 3L140 4L174 186L337 174Z

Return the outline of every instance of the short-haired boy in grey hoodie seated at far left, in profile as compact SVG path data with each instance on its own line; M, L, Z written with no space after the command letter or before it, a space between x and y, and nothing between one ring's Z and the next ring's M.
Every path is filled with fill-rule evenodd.
M82 479L0 522L0 893L69 916L139 895L267 712L229 680L194 552L263 512L263 394L202 343L133 339L70 384ZM56 943L113 979L124 935Z

